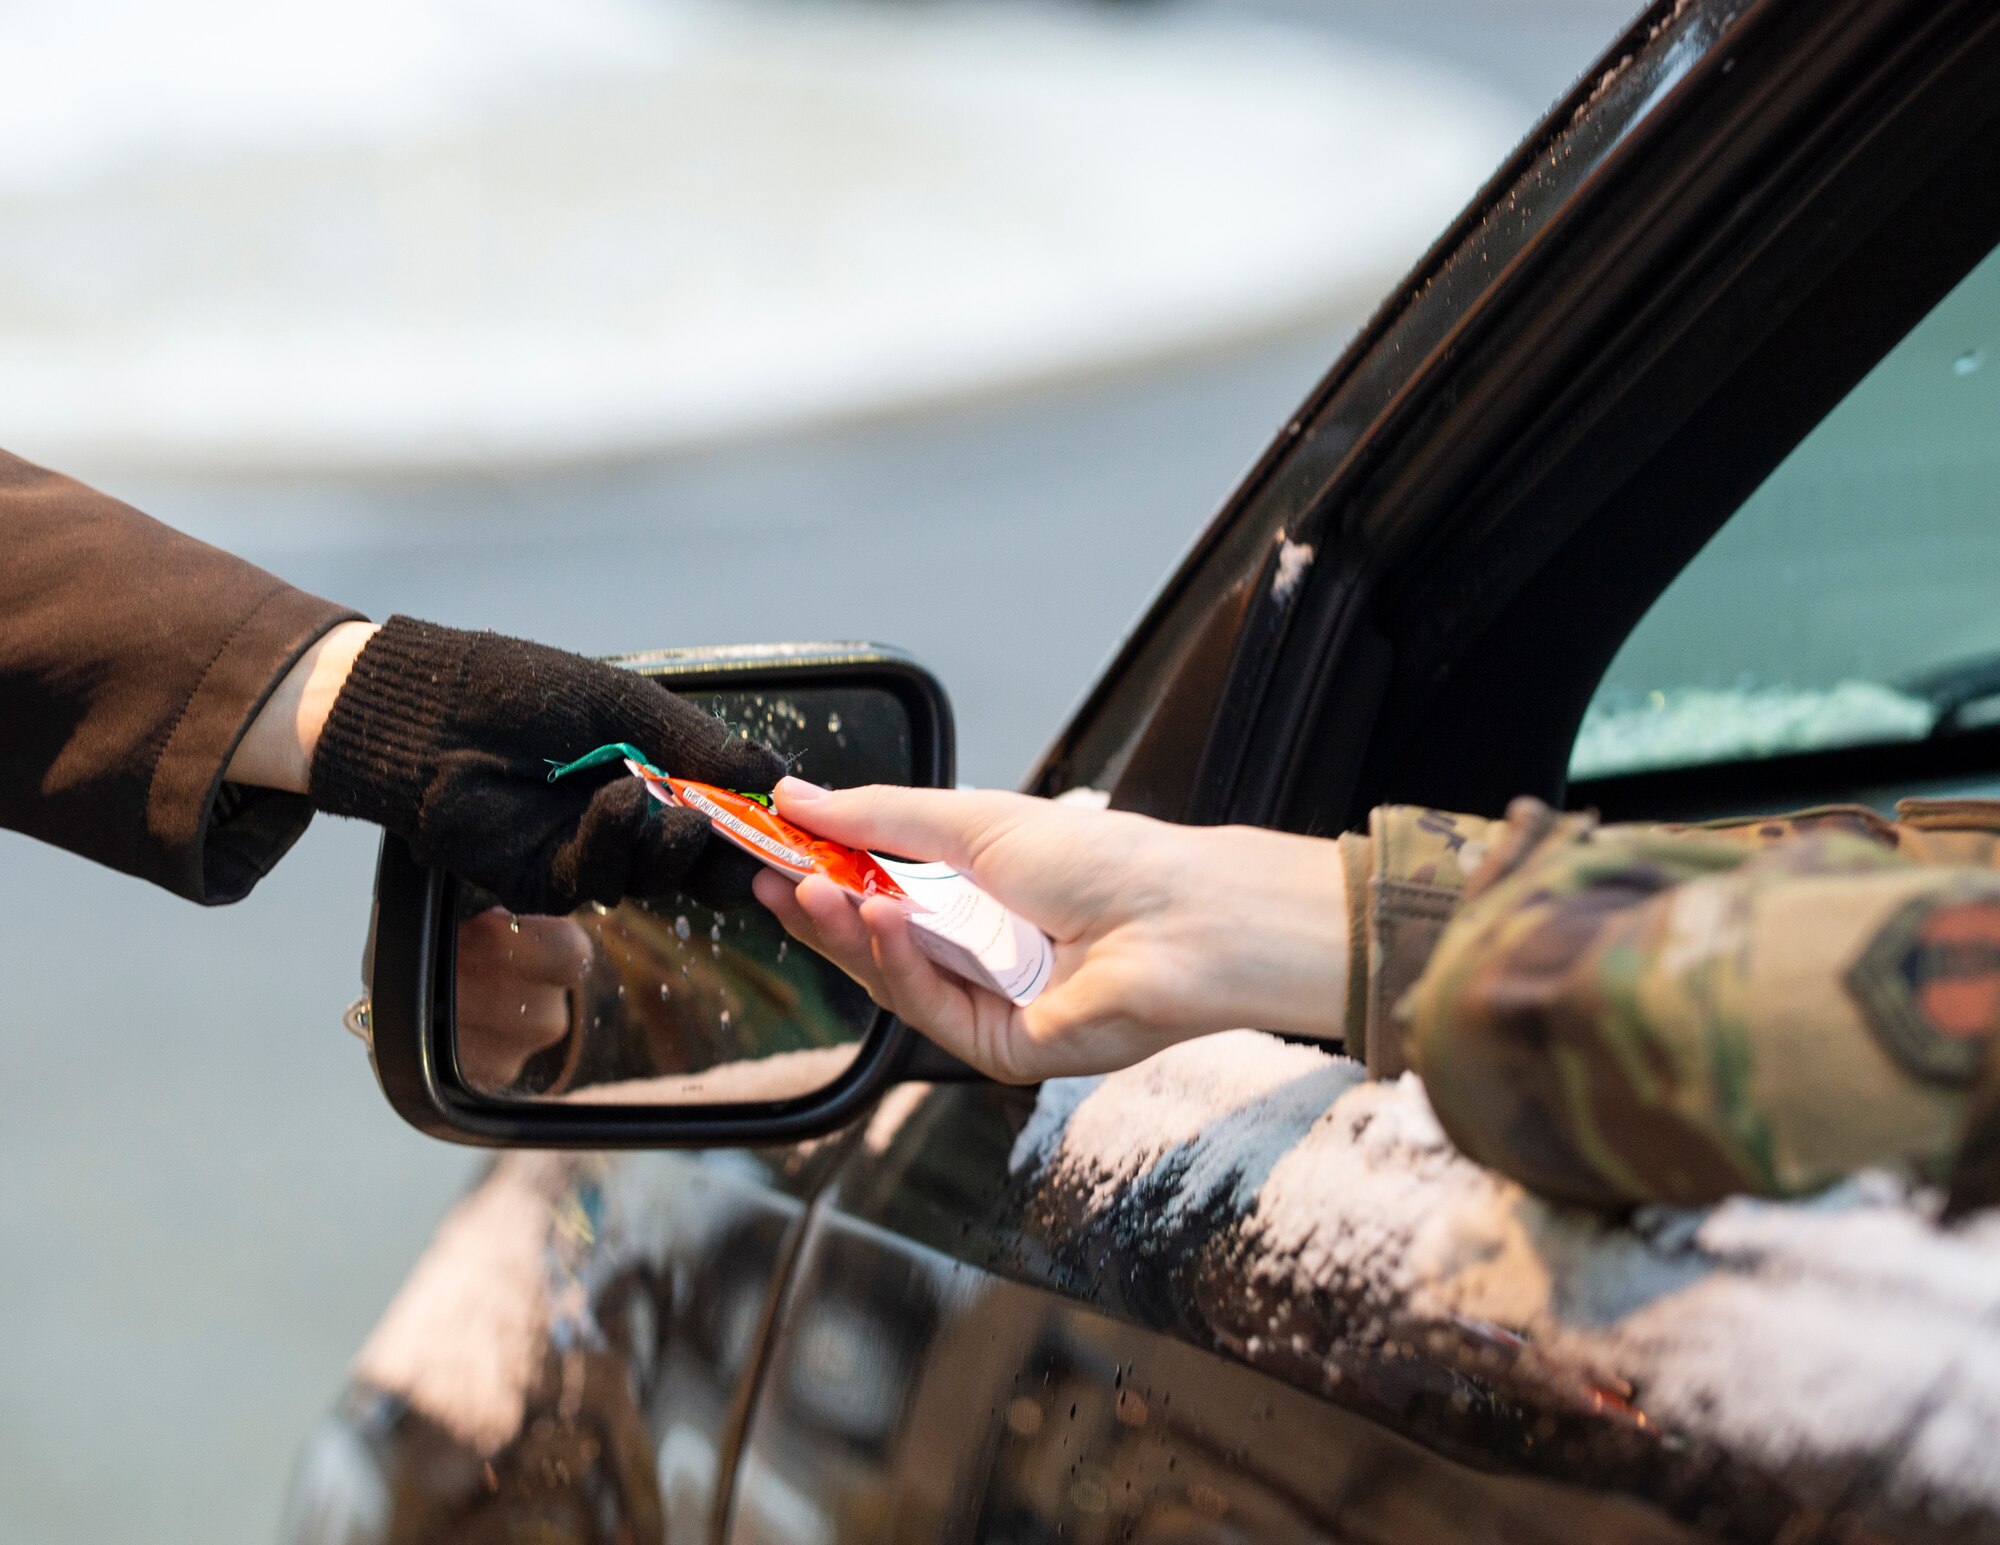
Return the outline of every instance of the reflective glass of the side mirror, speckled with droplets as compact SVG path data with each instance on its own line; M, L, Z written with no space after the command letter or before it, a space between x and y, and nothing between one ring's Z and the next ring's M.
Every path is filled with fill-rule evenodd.
M910 783L902 700L880 686L700 690L700 708L830 789ZM824 1089L874 1005L756 903L686 897L512 917L460 887L460 1079L482 1095L598 1105L732 1105Z

